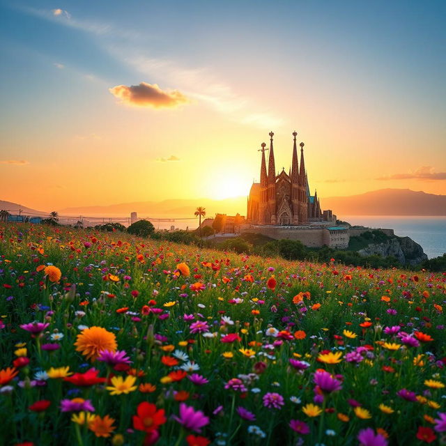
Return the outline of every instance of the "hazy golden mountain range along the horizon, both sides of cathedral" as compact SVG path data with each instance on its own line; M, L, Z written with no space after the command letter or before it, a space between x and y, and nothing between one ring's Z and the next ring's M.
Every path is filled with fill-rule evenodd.
M215 213L229 215L246 214L246 197L224 200L213 199L169 199L164 201L134 201L109 206L78 206L57 209L59 215L83 216L130 216L137 212L139 217L193 217L198 206L206 208L206 215ZM321 198L323 209L332 209L338 218L343 215L446 215L446 195L426 194L409 189L381 189L348 197ZM0 209L24 214L47 215L49 210L38 211L10 201L0 201Z

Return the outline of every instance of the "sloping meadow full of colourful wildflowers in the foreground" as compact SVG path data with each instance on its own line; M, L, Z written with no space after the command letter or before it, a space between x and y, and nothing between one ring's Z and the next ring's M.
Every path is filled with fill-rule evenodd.
M0 444L446 444L445 302L445 273L3 223Z

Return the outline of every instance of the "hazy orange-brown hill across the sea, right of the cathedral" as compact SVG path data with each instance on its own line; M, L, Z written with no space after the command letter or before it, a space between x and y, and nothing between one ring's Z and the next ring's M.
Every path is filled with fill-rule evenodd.
M342 215L446 215L446 195L380 189L349 197L321 198L321 208Z

